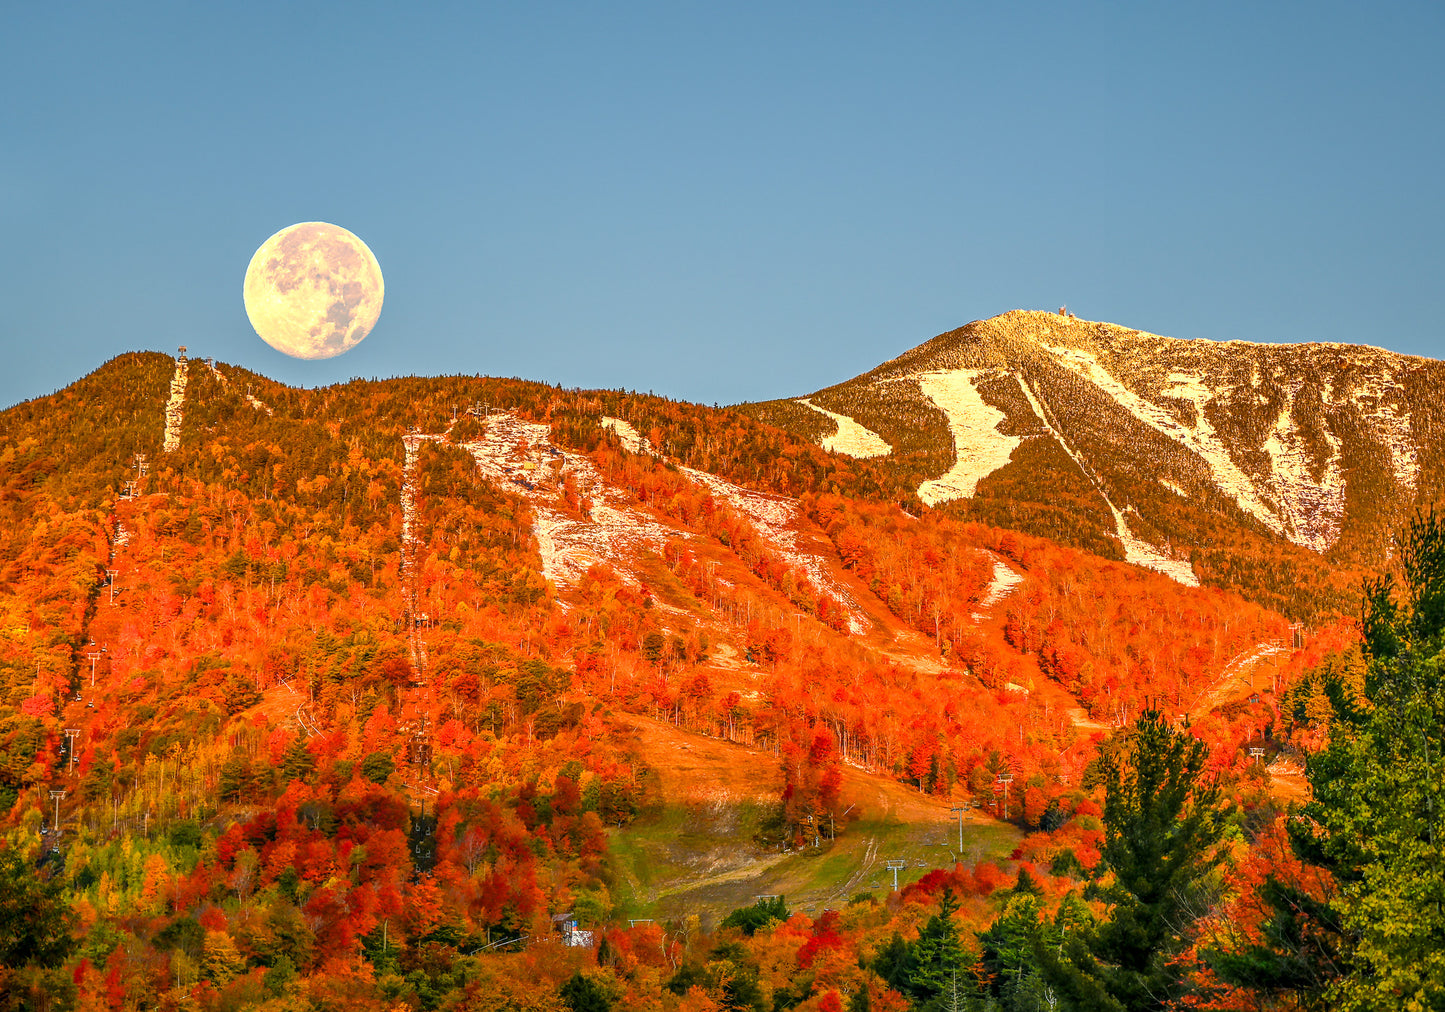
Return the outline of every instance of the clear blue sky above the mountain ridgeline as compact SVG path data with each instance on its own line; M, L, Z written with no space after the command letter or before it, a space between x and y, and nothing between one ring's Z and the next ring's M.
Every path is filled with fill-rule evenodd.
M1445 357L1445 6L9 4L0 405L136 348L276 379L806 393L1056 308ZM376 252L355 350L241 278Z

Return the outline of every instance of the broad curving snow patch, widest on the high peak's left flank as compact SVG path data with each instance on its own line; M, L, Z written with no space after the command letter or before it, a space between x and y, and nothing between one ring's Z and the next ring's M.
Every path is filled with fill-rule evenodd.
M918 497L929 506L972 496L978 483L1007 464L1023 442L1020 437L998 431L1006 415L975 389L978 377L987 373L990 370L954 369L916 377L923 395L948 415L954 434L954 466L918 487Z

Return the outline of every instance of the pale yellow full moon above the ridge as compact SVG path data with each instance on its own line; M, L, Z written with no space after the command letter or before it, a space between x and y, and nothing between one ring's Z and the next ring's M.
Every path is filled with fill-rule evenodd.
M243 286L251 327L293 359L332 359L360 344L381 315L383 291L367 244L325 221L302 221L262 243Z

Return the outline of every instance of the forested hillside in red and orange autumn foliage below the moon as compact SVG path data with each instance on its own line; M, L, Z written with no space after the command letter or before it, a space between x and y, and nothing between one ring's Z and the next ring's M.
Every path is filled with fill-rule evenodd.
M1155 752L1166 815L1212 812L1181 889L1287 863L1329 672L1363 664L1353 570L1183 586L757 415L159 354L0 415L10 1005L1046 1008L1092 985L1040 947L1133 902L1120 797ZM1261 545L1302 551L1194 565L1277 573ZM1272 610L1309 596L1306 626ZM808 912L655 918L616 852L681 802L639 721L769 756L759 866L889 818L854 768L948 804L958 846ZM1016 849L980 850L996 827ZM889 873L861 853L815 878Z

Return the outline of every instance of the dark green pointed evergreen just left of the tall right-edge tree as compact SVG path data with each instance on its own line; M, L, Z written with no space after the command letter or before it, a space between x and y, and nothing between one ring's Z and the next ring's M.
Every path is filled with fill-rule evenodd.
M1040 947L1048 983L1078 1009L1162 1009L1185 992L1169 966L1205 878L1222 860L1217 847L1225 810L1204 779L1208 749L1146 710L1124 746L1107 750L1104 859L1113 875L1100 886L1108 917L1064 941Z

